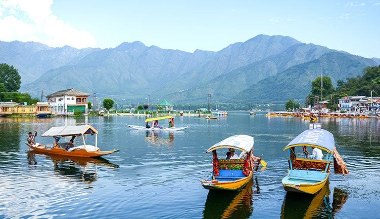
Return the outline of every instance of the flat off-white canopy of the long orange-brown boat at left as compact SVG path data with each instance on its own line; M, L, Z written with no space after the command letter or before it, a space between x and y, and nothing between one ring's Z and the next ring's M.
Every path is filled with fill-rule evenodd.
M47 136L73 136L84 134L97 134L97 130L91 125L78 125L78 126L58 126L51 127L47 130L42 137Z

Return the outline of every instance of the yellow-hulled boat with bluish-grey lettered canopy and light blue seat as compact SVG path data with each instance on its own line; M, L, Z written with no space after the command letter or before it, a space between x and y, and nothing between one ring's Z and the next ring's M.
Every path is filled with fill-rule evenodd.
M315 194L323 188L330 174L330 160L334 157L334 171L349 174L346 165L334 146L333 135L321 128L321 124L310 124L308 130L293 139L284 150L289 151L289 170L282 180L286 191ZM324 160L308 157L307 147L312 146L327 152ZM295 148L301 147L304 157L297 158ZM336 166L336 167L335 167Z

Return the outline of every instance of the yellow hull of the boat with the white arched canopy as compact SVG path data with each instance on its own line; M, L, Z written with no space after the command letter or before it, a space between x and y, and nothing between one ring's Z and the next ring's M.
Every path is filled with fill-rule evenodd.
M200 181L202 186L206 189L216 189L216 190L239 190L242 189L251 179L253 172L244 178L235 180L235 181L218 181L212 183L210 181Z

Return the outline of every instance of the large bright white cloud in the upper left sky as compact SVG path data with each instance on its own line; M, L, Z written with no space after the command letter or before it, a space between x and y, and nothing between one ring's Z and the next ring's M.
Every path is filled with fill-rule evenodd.
M52 14L52 0L0 0L0 40L37 41L49 46L95 47L95 38Z

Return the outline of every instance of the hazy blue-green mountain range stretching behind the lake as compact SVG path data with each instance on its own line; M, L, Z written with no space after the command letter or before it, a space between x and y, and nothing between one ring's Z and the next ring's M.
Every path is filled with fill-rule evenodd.
M115 48L52 48L37 42L1 42L0 63L21 75L32 96L76 88L116 100L167 99L204 103L284 103L303 100L311 81L328 75L335 85L380 59L367 59L291 37L258 35L217 51L193 53L124 42Z

